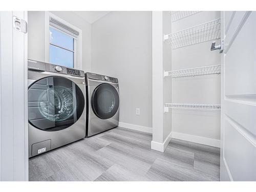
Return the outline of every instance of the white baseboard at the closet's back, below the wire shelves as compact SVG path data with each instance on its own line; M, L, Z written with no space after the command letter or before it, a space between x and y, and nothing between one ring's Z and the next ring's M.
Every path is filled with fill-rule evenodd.
M174 139L180 139L180 140L190 141L194 143L220 147L220 140L218 139L211 139L211 138L200 137L196 135L188 135L188 134L178 133L178 132L172 132L172 137Z

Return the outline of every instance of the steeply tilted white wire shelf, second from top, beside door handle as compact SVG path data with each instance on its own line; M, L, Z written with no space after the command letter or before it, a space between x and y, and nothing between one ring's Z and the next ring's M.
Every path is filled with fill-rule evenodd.
M199 44L212 39L219 39L221 32L221 19L187 28L175 33L164 35L164 40L172 44L173 49Z

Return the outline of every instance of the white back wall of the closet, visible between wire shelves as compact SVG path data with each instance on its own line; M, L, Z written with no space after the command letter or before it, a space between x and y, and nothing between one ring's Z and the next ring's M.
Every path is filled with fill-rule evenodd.
M218 11L199 12L173 22L172 32L217 18ZM220 65L219 51L210 51L212 41L172 50L172 70ZM172 102L220 104L220 80L217 74L173 78ZM220 140L220 111L173 109L172 115L173 132Z

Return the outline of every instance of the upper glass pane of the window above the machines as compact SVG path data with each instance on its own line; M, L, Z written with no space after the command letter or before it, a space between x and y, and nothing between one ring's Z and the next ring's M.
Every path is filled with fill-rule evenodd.
M74 38L52 27L50 27L50 44L54 44L72 51L74 50Z

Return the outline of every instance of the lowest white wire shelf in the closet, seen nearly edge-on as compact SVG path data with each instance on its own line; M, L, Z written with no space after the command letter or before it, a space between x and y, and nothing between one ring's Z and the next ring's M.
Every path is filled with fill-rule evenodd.
M165 103L164 112L168 109L193 109L193 110L221 110L220 104L185 104L185 103Z

